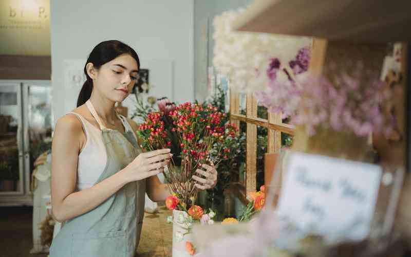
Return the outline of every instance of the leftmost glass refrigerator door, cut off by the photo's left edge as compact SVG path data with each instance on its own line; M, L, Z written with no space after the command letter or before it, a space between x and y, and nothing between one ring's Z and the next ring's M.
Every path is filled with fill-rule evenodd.
M0 195L24 194L21 88L0 83Z

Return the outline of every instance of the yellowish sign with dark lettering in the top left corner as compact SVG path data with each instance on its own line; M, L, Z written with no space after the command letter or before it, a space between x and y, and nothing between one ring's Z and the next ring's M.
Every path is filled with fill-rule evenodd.
M0 54L50 56L50 1L0 1Z

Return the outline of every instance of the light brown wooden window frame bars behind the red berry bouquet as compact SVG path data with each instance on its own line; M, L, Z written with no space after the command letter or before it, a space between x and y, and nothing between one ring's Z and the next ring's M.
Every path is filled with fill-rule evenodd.
M239 127L240 121L247 123L247 150L246 150L246 185L239 181L232 184L233 193L245 205L249 203L247 195L255 192L257 176L257 125L266 127L267 153L278 153L281 149L281 133L294 135L295 126L282 122L281 113L268 113L268 119L257 117L258 102L252 93L247 94L246 115L241 115L239 108L239 93L230 89L230 121Z

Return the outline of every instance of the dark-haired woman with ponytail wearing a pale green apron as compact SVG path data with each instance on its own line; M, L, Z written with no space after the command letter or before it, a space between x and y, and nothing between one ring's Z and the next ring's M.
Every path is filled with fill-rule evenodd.
M105 41L90 53L73 112L55 126L52 143L52 213L62 230L50 257L134 256L144 213L144 194L153 201L171 194L156 176L170 149L142 153L137 124L115 112L138 78L137 53L119 41ZM193 176L200 190L216 184L213 167ZM201 185L202 184L202 185Z

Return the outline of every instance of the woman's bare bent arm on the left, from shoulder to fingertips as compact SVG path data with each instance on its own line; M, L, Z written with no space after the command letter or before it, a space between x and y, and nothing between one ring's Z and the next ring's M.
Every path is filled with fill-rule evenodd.
M77 117L66 115L57 122L52 142L51 201L53 216L59 222L96 208L128 182L157 175L170 158L169 149L140 154L113 176L89 189L74 192L82 135L83 128ZM161 159L166 161L157 162Z

